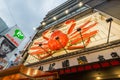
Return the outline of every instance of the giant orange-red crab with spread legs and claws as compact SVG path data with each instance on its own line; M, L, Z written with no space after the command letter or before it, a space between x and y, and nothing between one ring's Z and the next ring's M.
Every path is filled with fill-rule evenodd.
M54 51L61 49L82 49L90 43L91 37L98 33L98 30L90 30L98 24L97 21L92 21L91 18L85 20L83 24L77 26L77 28L77 23L74 19L67 20L64 24L70 25L69 27L67 26L67 33L57 29L52 31L48 37L46 35L50 29L44 31L42 33L44 41L34 42L29 50L29 53L31 55L37 55L39 58L45 58L52 55Z

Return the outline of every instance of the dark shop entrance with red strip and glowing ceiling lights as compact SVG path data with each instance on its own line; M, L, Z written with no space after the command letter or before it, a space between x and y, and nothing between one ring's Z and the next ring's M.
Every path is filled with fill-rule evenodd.
M120 58L55 71L60 80L120 80Z

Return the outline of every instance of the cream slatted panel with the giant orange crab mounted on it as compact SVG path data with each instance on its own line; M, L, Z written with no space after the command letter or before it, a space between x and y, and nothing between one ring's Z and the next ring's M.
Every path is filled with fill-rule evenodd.
M31 55L29 58L36 57L38 60L51 58L106 44L109 31L109 23L106 22L106 19L105 16L94 13L77 20L67 20L57 29L55 26L44 31L42 36L35 39L29 48L28 53ZM119 27L120 25L113 20L109 42L120 39ZM32 62L35 61L32 60Z

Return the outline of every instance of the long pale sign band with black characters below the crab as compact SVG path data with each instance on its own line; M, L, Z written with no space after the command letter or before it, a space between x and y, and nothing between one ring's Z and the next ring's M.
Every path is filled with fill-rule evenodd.
M33 67L43 71L51 71L56 69L69 68L78 65L87 65L95 62L103 62L108 59L120 58L120 47L106 49L99 52L92 52L85 55L77 55L72 58L65 58L62 60L55 60L43 64L37 64ZM102 65L102 64L101 64ZM103 65L104 66L104 65Z

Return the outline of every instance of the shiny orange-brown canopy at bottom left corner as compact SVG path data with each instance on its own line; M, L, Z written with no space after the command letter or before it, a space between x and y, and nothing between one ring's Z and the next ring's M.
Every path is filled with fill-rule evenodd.
M56 72L44 72L25 67L24 65L18 65L6 70L0 71L0 80L53 80L57 79L58 74Z

